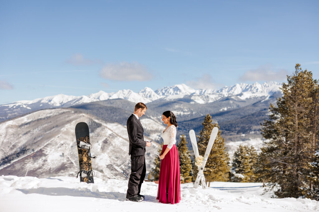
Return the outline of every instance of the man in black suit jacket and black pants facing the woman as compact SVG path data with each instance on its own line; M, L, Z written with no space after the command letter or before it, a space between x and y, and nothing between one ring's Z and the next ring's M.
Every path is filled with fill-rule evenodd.
M126 123L130 140L129 155L131 155L131 174L126 200L134 202L141 202L145 198L140 192L146 174L145 147L150 147L151 143L144 140L144 130L139 117L145 114L146 109L147 107L144 103L137 103L134 113L132 113Z

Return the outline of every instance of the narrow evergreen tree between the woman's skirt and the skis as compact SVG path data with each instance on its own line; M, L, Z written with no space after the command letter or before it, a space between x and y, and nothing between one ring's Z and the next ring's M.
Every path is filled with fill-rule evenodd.
M185 135L181 135L181 141L177 145L177 150L179 154L181 181L182 183L190 182L192 181L192 176L190 176L192 161L187 147Z

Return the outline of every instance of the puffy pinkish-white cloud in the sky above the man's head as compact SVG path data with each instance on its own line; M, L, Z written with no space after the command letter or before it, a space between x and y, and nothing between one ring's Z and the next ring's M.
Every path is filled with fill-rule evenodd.
M107 64L101 70L100 76L115 81L148 81L153 77L144 65L137 62Z

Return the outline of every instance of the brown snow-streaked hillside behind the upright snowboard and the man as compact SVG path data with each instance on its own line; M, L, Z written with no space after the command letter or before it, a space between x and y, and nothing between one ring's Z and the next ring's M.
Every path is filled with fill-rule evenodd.
M152 120L141 119L142 125ZM0 174L17 176L76 176L78 150L75 125L86 122L90 128L93 170L101 179L127 179L130 174L127 129L108 123L75 109L47 109L0 123L0 159L13 161L0 167ZM156 123L153 123L156 124ZM159 125L157 123L157 125ZM151 140L145 136L145 140ZM146 151L147 172L159 145L152 143ZM16 157L21 150L25 152Z

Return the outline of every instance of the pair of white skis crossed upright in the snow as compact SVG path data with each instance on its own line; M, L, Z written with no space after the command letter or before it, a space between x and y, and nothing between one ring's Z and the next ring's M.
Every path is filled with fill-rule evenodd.
M212 131L211 131L211 136L209 138L208 145L206 147L206 152L205 152L205 155L204 155L204 161L203 161L201 166L197 167L198 168L198 174L197 174L196 181L194 183L194 187L193 188L197 188L198 187L199 181L202 182L203 189L207 188L206 181L205 181L205 176L204 176L203 171L204 171L204 168L205 168L209 153L211 152L211 147L213 147L214 141L216 139L217 133L218 133L218 127L214 127L212 129ZM199 156L199 153L198 153L196 135L195 135L194 130L189 130L189 137L190 137L190 141L192 143L192 147L193 147L193 150L194 150L195 158L197 158L197 156Z

